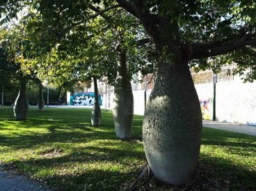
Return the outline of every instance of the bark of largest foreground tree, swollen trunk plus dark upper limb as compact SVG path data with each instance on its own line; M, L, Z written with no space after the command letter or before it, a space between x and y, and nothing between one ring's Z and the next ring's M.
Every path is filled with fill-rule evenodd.
M200 152L202 113L188 62L193 47L183 46L175 19L153 15L145 1L116 0L138 17L160 53L158 77L143 121L143 144L147 161L157 178L181 185L193 179ZM164 58L167 56L167 58ZM168 60L175 63L167 64Z

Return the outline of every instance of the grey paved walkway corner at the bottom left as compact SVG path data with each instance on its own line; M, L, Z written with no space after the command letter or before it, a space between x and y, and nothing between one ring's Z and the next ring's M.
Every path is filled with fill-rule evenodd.
M51 191L45 185L37 181L29 180L13 172L4 171L0 167L0 190L1 191Z

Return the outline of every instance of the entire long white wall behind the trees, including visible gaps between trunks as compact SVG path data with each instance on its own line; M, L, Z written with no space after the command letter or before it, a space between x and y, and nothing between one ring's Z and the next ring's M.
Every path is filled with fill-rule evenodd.
M227 78L228 77L228 78ZM220 122L235 122L256 126L256 82L243 83L238 76L218 76L216 83L216 119ZM211 73L207 83L195 84L198 92L202 117L212 119L213 84ZM147 90L147 100L152 90ZM103 93L103 108L113 107L113 90ZM109 93L110 92L110 93ZM144 115L144 90L136 90L134 93L134 114ZM70 95L69 95L70 96Z

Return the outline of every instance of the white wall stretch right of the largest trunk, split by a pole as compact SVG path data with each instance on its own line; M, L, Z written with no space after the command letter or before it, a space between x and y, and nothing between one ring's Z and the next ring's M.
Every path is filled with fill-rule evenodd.
M202 116L212 117L212 83L195 84L200 99ZM216 83L216 119L256 125L256 83L243 83L240 78Z

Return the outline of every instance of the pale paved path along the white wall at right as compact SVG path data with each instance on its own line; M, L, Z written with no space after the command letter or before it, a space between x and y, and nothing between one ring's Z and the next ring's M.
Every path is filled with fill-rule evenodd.
M207 120L202 121L202 126L256 136L256 126L232 124L232 123L225 123L225 122L213 122L213 121L207 121Z

